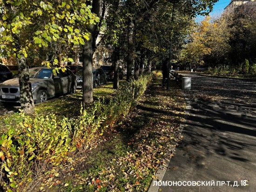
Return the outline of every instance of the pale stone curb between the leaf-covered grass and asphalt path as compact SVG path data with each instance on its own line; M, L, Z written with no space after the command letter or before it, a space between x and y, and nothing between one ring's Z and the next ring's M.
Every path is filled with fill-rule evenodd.
M180 134L180 135L182 134L183 128L186 126L187 116L189 116L189 112L190 112L190 109L191 109L190 99L187 97L187 94L185 93L185 91L182 90L182 93L183 93L183 97L186 101L187 106L186 106L186 109L185 109L185 120L181 122L180 127L178 128L178 131L177 131L178 134ZM171 154L173 154L173 153L175 153L175 147L170 147L167 154L166 154L166 156L170 157L170 158L165 158L164 159L164 165L167 165L167 166L162 166L162 165L159 166L158 170L156 171L156 173L154 175L157 179L152 179L151 180L147 192L158 192L159 191L159 186L157 186L157 185L154 186L153 184L154 184L155 181L157 182L157 181L161 181L163 179L163 177L165 175L165 172L168 169L171 158L172 158Z

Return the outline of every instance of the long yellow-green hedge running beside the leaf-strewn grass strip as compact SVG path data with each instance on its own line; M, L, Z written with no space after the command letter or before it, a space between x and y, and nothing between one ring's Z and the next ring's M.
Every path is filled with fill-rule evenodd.
M99 98L89 109L81 105L77 118L31 117L20 111L15 119L6 119L9 130L0 136L0 185L8 192L24 191L36 171L57 166L69 152L88 146L137 105L152 78L152 74L141 75L125 83L108 102Z

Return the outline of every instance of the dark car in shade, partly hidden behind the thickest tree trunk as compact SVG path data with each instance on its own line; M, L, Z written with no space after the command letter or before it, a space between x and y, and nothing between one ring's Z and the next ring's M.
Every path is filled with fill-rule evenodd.
M108 78L106 73L99 68L93 68L93 86L100 86L103 84L106 84L108 82ZM76 75L76 81L77 81L77 88L82 88L83 86L83 70L77 71Z

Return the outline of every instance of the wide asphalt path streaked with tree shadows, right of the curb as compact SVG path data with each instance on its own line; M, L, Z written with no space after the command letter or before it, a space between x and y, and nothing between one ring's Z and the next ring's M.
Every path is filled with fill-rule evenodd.
M185 76L192 77L184 91L190 114L162 181L186 186L159 191L256 192L256 81ZM215 185L204 186L209 181Z

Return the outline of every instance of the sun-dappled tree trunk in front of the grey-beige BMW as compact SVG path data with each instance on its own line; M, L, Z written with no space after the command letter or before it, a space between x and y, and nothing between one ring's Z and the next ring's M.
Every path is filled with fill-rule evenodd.
M21 55L17 57L19 70L19 84L20 84L20 106L26 114L34 113L34 100L31 91L31 83L29 81L29 69L27 58Z

